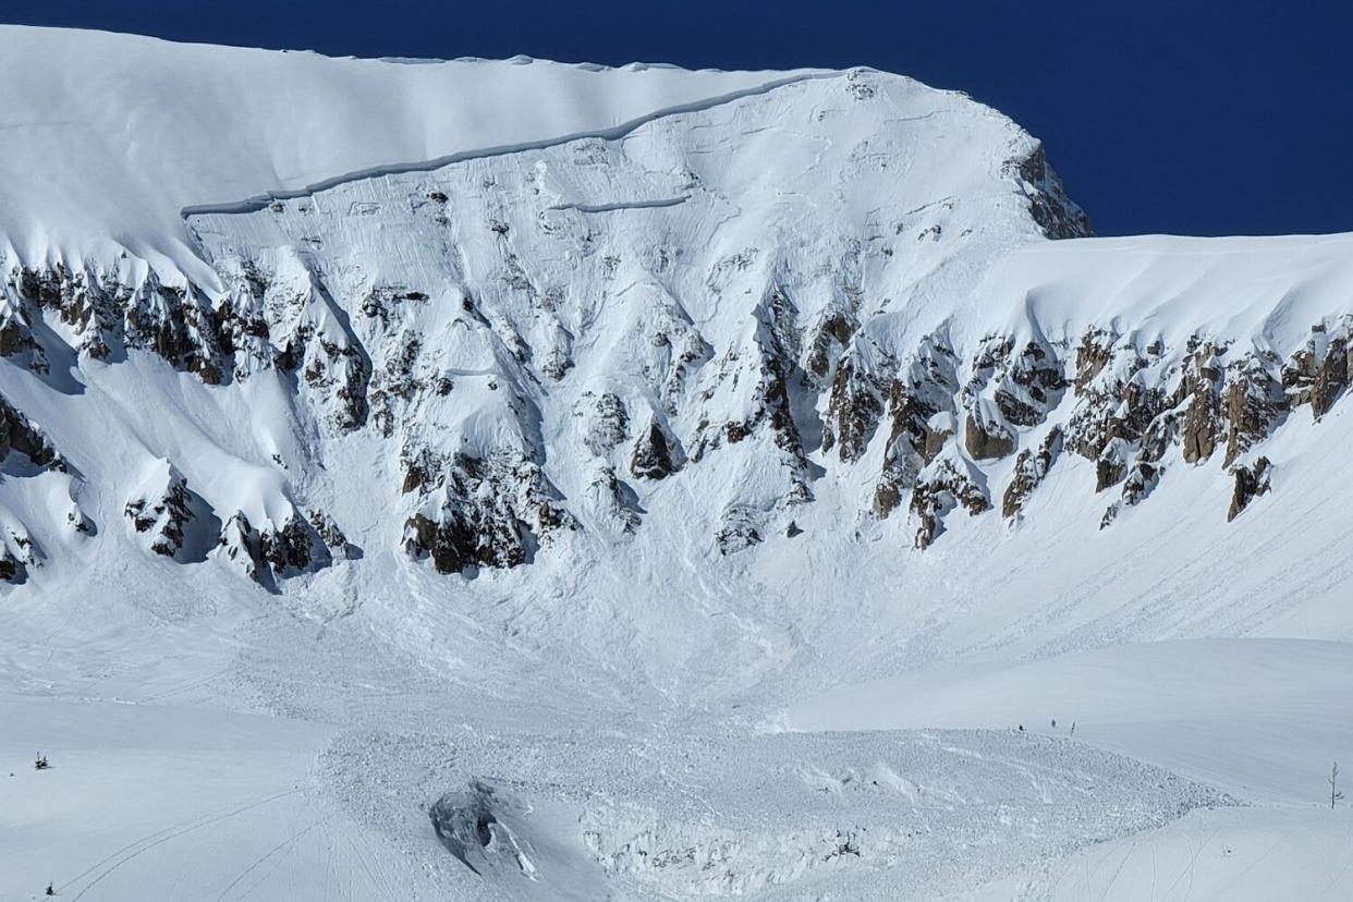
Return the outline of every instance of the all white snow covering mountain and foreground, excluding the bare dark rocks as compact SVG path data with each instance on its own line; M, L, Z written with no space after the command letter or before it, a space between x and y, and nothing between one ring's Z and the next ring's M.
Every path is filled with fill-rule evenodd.
M1168 450L1111 529L1068 453L1020 515L950 514L924 552L905 506L870 511L888 421L854 461L815 438L808 349L782 354L804 464L764 423L718 438L756 411L762 349L842 311L858 371L943 335L958 385L990 335L1089 327L1160 341L1137 379L1195 335L1285 360L1353 312L1353 237L1050 242L1046 188L1009 166L1030 135L869 70L0 27L0 85L7 268L154 273L208 304L268 283L267 334L219 384L93 357L85 325L5 298L47 366L0 358L0 395L66 468L0 471L0 540L28 561L0 587L0 899L1353 894L1325 782L1353 775L1346 399L1239 458L1275 475L1234 522L1220 452ZM303 365L271 364L296 335ZM360 348L383 394L357 429L307 377L325 346ZM969 410L1000 426L989 395ZM662 480L629 469L649 422L681 452ZM449 490L400 485L410 449L517 454L578 527L437 573L403 525ZM1000 504L1012 457L946 461ZM181 560L124 510L179 475ZM311 511L350 548L276 592L212 546L237 513ZM759 541L721 552L744 521Z

